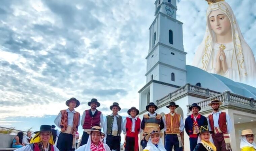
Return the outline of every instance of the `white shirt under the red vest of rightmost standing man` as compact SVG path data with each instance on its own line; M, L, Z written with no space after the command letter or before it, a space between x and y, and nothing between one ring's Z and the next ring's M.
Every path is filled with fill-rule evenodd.
M220 128L219 126L219 117L220 117L220 113L221 111L218 112L212 112L211 114L213 114L213 122L214 122L214 127L215 128ZM209 131L213 131L210 125L210 121L209 118L207 118L208 121L208 129ZM231 125L231 120L229 115L226 113L226 122L227 122L227 133L229 134L232 131L232 125Z

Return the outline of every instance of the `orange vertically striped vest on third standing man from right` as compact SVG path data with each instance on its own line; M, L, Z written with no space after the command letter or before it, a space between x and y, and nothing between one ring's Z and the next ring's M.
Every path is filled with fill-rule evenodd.
M165 114L166 134L180 134L180 114L175 113L171 116L170 113Z

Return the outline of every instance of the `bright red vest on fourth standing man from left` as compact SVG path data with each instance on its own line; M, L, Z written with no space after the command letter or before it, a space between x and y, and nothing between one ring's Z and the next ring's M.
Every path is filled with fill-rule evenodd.
M134 132L132 132L132 119L129 117L126 117L126 136L134 137L139 134L140 131L140 119L137 117L137 120L135 120L135 128Z

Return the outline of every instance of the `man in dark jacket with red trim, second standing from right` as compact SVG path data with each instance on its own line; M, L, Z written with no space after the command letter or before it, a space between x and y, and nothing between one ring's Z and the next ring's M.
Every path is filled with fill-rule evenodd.
M208 125L207 118L200 113L201 107L196 103L193 103L189 110L192 114L189 115L185 120L185 130L189 136L190 151L193 151L197 144L197 138L200 134L199 128L204 125Z

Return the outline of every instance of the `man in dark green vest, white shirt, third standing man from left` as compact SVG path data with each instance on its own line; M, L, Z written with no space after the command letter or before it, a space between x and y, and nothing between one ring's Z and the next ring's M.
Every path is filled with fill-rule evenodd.
M113 111L113 113L106 116L103 125L103 131L106 136L104 141L109 146L110 150L120 151L120 135L122 133L123 120L122 116L118 115L118 111L121 110L121 107L119 107L118 103L114 102L113 105L111 105L109 108Z

